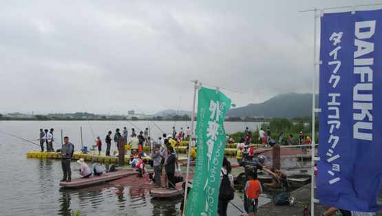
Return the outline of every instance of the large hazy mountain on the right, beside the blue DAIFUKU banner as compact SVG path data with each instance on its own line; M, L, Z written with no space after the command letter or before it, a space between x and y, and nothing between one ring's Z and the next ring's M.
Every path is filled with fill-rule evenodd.
M316 96L316 107L319 95ZM280 94L262 103L249 104L245 107L229 109L226 116L293 118L312 116L312 94Z

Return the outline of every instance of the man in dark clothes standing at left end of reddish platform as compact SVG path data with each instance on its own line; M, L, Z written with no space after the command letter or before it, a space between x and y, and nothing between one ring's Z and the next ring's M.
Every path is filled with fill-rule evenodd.
M74 145L69 142L69 138L65 136L64 144L60 151L61 155L61 167L63 169L63 180L60 182L71 182L72 181L72 170L70 169L70 158L74 151Z

